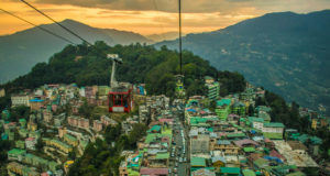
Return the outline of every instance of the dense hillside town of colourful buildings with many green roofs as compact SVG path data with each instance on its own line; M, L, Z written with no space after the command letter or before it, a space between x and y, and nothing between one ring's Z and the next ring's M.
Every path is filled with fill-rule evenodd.
M1 140L12 143L8 175L67 175L89 143L105 140L107 128L121 125L128 134L138 123L147 130L135 150L121 152L120 176L330 174L330 163L319 160L322 139L273 121L272 108L256 105L265 96L262 88L248 85L244 92L220 97L221 85L207 76L206 96L185 100L148 96L144 85L130 87L129 113L108 112L108 86L44 85L11 95L0 121ZM307 108L299 113L310 129L330 130L329 118Z

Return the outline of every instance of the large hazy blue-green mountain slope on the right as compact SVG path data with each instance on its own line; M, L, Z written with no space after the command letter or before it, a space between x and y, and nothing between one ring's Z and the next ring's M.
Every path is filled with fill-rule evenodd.
M330 10L270 13L223 30L188 34L183 47L220 70L237 70L286 100L330 114ZM157 43L177 48L178 41Z

